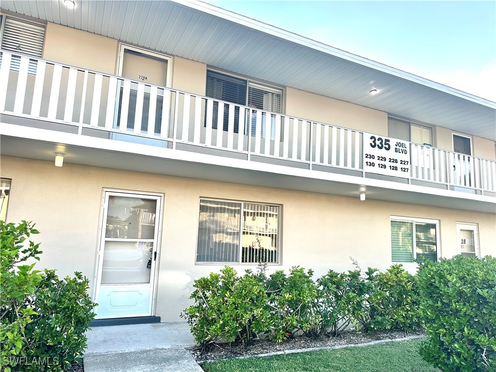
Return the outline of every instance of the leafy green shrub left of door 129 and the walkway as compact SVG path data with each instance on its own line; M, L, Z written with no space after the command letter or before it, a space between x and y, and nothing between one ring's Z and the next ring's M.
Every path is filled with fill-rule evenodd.
M54 270L33 270L39 244L26 238L38 234L34 225L0 221L1 232L1 364L10 371L63 371L86 348L84 332L94 317L86 289L88 280L61 281Z

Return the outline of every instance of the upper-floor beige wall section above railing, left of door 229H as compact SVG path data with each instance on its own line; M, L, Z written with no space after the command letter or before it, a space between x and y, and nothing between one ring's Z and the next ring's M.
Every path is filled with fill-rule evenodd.
M117 48L115 39L49 22L43 58L114 74Z

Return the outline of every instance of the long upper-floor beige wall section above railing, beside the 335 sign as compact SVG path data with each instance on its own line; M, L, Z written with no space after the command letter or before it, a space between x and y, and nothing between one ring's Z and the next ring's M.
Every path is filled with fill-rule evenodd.
M387 113L287 87L286 114L387 135Z

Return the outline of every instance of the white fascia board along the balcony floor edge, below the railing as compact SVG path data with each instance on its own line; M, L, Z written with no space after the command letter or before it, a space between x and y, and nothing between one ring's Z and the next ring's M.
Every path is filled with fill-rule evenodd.
M428 194L439 197L453 197L465 200L474 200L490 203L496 206L496 198L487 195L471 194L462 191L439 189L435 187L401 184L392 181L359 178L337 173L318 172L309 169L293 168L277 164L267 164L243 159L220 157L216 155L200 154L183 150L164 147L155 147L139 143L123 142L118 140L83 136L74 133L54 132L42 128L19 126L2 123L0 135L18 137L34 141L63 144L67 146L84 147L98 151L134 154L135 156L161 158L178 162L201 164L210 167L232 168L237 170L255 171L263 174L273 174L286 177L295 177L300 180L318 180L347 184L350 186L363 186L381 188L384 190L406 191L417 194ZM55 154L55 151L54 151Z

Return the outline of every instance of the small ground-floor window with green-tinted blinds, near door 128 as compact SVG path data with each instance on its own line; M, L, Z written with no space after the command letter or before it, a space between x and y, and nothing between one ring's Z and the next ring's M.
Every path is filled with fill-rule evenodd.
M414 262L421 255L437 260L437 222L391 219L392 262Z

